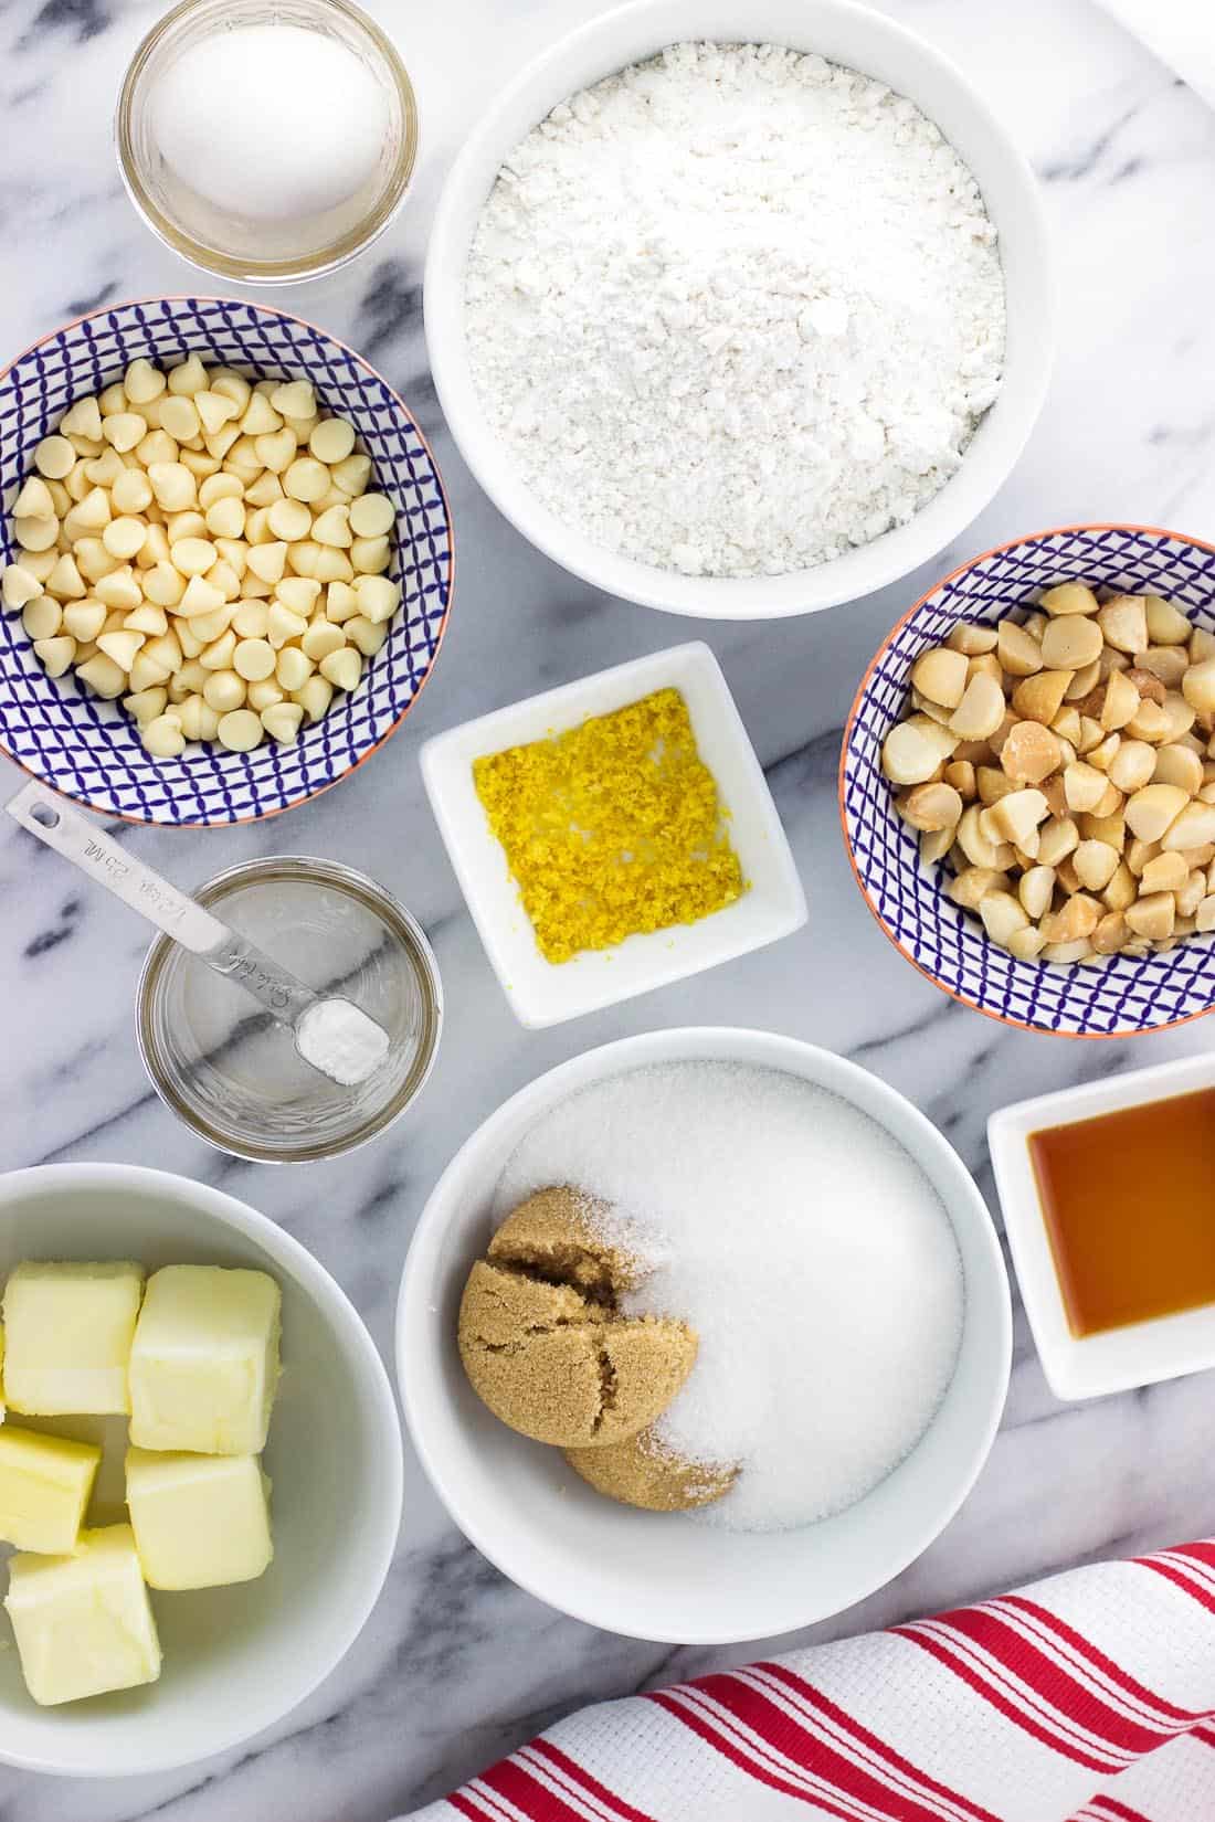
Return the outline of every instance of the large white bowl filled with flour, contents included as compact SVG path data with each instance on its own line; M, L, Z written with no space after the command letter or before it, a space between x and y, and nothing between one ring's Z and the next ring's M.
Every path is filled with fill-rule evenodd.
M561 40L455 160L424 302L452 434L517 530L718 619L929 559L1049 374L1027 164L845 0L638 0Z

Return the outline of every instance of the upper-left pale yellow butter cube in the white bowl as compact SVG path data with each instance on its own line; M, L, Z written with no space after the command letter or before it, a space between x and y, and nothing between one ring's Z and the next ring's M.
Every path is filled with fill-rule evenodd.
M4 1290L4 1390L13 1410L128 1412L128 1363L144 1268L27 1261Z

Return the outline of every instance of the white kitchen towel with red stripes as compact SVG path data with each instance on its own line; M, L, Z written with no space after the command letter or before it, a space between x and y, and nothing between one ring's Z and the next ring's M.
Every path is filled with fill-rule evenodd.
M1215 1822L1215 1540L583 1709L412 1822Z

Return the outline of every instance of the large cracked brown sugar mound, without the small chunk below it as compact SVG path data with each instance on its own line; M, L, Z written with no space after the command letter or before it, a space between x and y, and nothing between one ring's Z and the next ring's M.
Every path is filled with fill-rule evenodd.
M572 1190L523 1203L477 1259L459 1310L459 1352L485 1405L557 1448L627 1441L661 1416L696 1363L670 1317L618 1314L638 1263L596 1233Z

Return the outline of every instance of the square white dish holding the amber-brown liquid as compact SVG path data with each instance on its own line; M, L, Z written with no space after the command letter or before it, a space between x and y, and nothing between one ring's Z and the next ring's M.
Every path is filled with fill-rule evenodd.
M1120 1108L1197 1093L1213 1082L1215 1059L1184 1057L1106 1082L1084 1082L1035 1100L1020 1100L987 1121L991 1168L1022 1303L1042 1370L1057 1397L1102 1397L1215 1366L1215 1305L1128 1323L1126 1328L1095 1336L1073 1336L1029 1159L1029 1135L1047 1126L1069 1126ZM1151 1219L1149 1206L1144 1208L1144 1219Z

